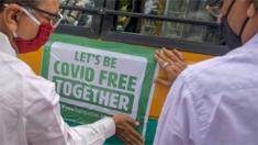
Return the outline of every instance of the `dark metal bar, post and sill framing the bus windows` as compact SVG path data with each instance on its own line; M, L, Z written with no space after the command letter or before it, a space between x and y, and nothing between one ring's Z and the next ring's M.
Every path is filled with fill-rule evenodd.
M117 32L114 29L114 19L115 16L128 16L128 18L137 18L137 19L149 19L154 21L164 21L164 22L176 22L183 24L192 24L192 25L201 25L201 26L210 26L217 27L217 23L207 22L207 21L199 21L191 19L180 19L180 18L170 18L170 16L161 16L154 14L145 14L145 13L136 13L136 12L122 12L114 10L114 5L110 3L105 3L105 7L99 8L81 8L81 7L70 7L70 5L61 5L64 10L71 11L80 11L87 12L89 14L94 15L94 20L98 20L92 24L92 27L82 27L82 26L69 26L61 25L58 32L65 32L68 34L101 38L105 41L114 41L121 43L130 43L136 45L148 45L154 47L168 47L168 48L179 48L184 52L193 52L200 54L209 54L209 55L223 55L228 52L228 48L218 44L207 44L200 42L189 42L184 40L175 40L168 37L159 37L159 36L150 36L150 35L141 35L135 33L126 33L126 32Z

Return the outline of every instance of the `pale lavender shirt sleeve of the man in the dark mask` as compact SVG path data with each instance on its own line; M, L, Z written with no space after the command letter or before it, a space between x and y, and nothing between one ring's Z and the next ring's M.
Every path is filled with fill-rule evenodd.
M155 145L192 145L197 129L192 96L182 77L167 96L158 120Z

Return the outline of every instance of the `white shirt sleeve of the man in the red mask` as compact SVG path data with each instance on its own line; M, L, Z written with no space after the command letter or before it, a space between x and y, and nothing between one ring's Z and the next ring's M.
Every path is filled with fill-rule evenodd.
M100 145L115 134L115 124L110 118L88 125L68 126L60 115L54 83L32 77L24 86L25 134L30 145Z

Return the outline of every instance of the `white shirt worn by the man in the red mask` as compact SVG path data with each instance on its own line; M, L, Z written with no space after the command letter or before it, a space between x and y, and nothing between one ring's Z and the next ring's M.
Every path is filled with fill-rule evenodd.
M0 32L0 145L100 145L115 134L106 118L68 126L60 116L55 85L15 57Z

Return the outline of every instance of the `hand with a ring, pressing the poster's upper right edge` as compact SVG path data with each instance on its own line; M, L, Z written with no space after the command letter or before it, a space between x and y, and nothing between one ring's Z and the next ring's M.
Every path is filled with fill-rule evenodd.
M170 87L178 75L187 67L187 63L182 54L177 49L168 51L162 48L161 51L156 51L154 57L168 77L167 80L157 79L156 82L166 87Z

